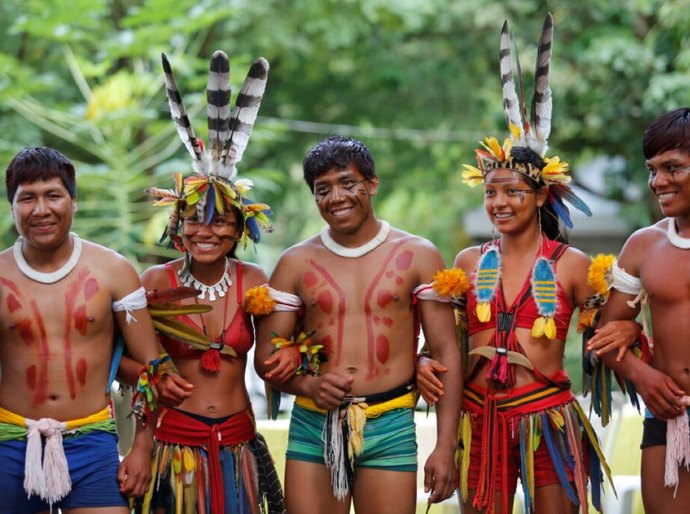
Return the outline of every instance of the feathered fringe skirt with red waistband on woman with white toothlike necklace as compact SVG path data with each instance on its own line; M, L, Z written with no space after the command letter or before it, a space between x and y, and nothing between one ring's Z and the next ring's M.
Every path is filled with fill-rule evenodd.
M285 512L273 459L250 411L209 426L166 410L156 430L151 475L138 513Z

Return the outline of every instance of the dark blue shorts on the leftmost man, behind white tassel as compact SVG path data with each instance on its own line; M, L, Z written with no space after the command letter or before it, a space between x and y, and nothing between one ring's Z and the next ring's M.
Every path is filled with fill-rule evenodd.
M65 437L62 443L72 490L53 504L54 509L127 506L127 498L120 493L117 482L120 458L115 434L94 430ZM26 441L0 442L0 514L32 514L49 510L48 504L40 497L27 499L24 491L25 457Z

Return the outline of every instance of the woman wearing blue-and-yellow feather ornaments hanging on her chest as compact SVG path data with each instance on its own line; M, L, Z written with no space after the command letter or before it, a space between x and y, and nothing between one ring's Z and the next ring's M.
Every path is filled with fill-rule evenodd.
M500 71L510 137L503 144L485 138L477 165L465 165L463 172L468 185L484 185L484 207L499 235L461 251L454 264L471 284L458 299L469 337L459 441L465 513L512 512L518 477L525 512L587 512L588 481L592 503L601 510L602 469L608 475L563 369L573 311L593 295L590 258L566 244L563 226L572 228L572 222L564 201L591 213L569 186L568 164L546 156L552 34L549 14L528 122L504 24ZM627 345L636 339L637 325L623 329L619 341ZM434 383L430 372L439 365L420 361L421 386ZM438 388L423 394L437 397Z

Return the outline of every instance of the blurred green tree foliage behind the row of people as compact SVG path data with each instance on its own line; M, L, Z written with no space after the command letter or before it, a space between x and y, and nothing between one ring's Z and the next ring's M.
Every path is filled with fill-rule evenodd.
M623 172L608 180L625 202L628 184L646 180L644 127L690 105L689 3L0 0L0 161L24 145L57 147L78 165L77 231L142 266L170 256L157 245L166 213L142 193L189 170L169 121L160 53L202 137L213 50L230 55L234 91L262 55L269 85L240 174L274 207L277 230L246 257L270 271L286 246L321 226L301 159L320 138L343 133L374 152L379 216L428 237L450 263L467 244L463 213L481 198L461 184L461 164L473 161L483 136L506 135L503 20L516 33L529 92L541 24L553 12L551 146L575 169L594 156L622 156ZM656 215L651 202L634 206L631 227ZM12 222L0 220L8 245Z

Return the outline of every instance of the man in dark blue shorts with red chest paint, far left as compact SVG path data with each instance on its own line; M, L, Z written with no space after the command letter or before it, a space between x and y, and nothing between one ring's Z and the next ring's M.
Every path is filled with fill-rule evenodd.
M126 496L148 485L152 434L138 429L119 463L106 387L116 328L138 361L158 357L145 302L122 301L141 281L124 257L70 233L64 155L25 148L5 179L20 238L0 253L0 513L125 514Z

